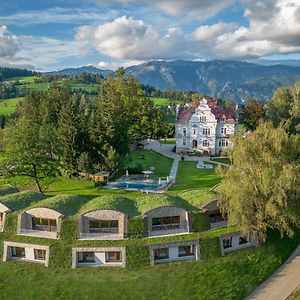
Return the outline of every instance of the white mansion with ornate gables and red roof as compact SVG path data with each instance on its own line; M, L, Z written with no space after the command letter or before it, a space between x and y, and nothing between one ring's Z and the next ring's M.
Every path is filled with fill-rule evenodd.
M216 99L202 98L177 117L176 151L219 155L237 130L236 116L235 110L219 106Z

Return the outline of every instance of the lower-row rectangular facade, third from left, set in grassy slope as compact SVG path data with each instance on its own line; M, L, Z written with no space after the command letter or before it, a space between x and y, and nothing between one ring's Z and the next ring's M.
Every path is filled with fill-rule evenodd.
M151 245L149 249L151 265L200 259L199 240Z

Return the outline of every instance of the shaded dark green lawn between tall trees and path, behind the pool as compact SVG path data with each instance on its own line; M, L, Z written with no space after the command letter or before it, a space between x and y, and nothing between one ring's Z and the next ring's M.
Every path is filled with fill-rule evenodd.
M150 167L154 167L154 176L166 177L170 173L172 164L172 159L154 151L136 150L130 153L127 161L124 162L123 168L133 168L140 165L143 170L149 170Z

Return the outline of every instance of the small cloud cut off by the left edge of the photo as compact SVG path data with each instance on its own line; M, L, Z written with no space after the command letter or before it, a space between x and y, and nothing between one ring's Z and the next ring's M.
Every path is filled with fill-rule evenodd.
M6 26L0 26L0 58L13 57L18 49L18 38Z

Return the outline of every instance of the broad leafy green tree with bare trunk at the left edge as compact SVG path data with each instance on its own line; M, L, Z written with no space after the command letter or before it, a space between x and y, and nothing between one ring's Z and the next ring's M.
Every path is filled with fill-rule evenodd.
M40 180L54 176L57 171L52 145L52 137L46 127L24 117L19 118L4 133L5 160L2 168L5 174L31 177L42 192Z

